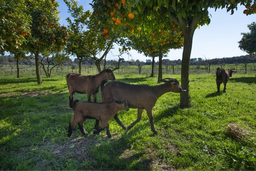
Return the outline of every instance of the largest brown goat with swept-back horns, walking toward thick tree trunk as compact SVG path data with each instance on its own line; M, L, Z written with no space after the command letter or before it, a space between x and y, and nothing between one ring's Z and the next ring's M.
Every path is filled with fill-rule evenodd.
M154 119L152 116L152 109L157 102L157 99L165 94L166 92L175 92L180 93L182 90L180 83L176 79L160 79L160 81L165 84L158 86L148 86L148 85L133 85L127 83L121 83L116 81L111 81L106 86L104 84L106 81L102 81L101 84L101 96L102 102L112 102L112 97L124 98L127 100L130 108L138 108L138 117L136 121L131 123L131 125L126 128L123 122L117 117L117 114L114 116L117 123L123 127L123 129L131 129L136 123L138 123L142 116L142 111L145 109L147 111L147 116L150 121L151 130L153 133L157 133L154 127ZM98 127L98 122L95 123L95 128Z

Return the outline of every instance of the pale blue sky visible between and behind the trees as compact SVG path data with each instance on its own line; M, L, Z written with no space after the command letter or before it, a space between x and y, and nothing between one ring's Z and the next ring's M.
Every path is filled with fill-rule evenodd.
M57 0L60 4L60 23L67 25L65 20L68 16L68 8L63 0ZM91 10L92 0L78 0L78 5L83 5L84 11ZM233 15L231 12L226 12L226 9L209 9L211 14L211 22L207 26L200 26L200 29L196 29L193 36L192 52L190 58L223 58L247 55L244 51L238 47L238 41L241 40L241 33L249 31L247 25L252 22L256 22L256 14L246 16L243 14L244 6L238 6ZM112 50L114 55L118 54L118 46L114 46ZM173 50L171 49L167 55L169 60L182 59L183 49ZM140 60L146 61L151 59L150 57L139 54L136 50L130 51L131 57L128 55L122 56L125 60ZM117 57L113 57L111 53L108 54L107 60L118 60ZM157 59L156 59L157 61Z

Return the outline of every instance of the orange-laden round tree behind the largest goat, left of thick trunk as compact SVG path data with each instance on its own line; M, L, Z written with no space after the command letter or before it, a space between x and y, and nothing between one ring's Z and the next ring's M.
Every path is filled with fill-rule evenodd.
M162 58L167 56L170 49L179 49L183 46L183 33L170 20L160 18L157 11L152 11L152 15L145 20L147 22L137 23L136 28L131 27L128 30L129 37L121 39L120 45L124 46L122 50L127 50L128 46L129 49L135 49L153 58L151 77L154 76L154 58L159 57L159 82L159 79L162 79Z

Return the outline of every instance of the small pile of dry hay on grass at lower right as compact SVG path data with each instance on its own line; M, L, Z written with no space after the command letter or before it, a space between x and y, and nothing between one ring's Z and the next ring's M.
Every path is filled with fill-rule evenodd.
M227 133L236 140L242 140L256 145L256 132L241 128L239 123L227 125Z

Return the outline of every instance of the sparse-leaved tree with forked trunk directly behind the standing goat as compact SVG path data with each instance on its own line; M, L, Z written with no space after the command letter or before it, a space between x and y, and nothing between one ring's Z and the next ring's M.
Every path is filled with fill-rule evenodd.
M82 5L78 7L75 0L64 0L64 2L68 6L71 17L74 18L73 21L67 18L69 24L67 51L78 58L79 73L81 73L81 63L84 57L92 58L97 71L101 72L101 61L112 48L114 38L109 39L106 29L106 34L101 33L95 16L91 15L90 11L83 12Z

